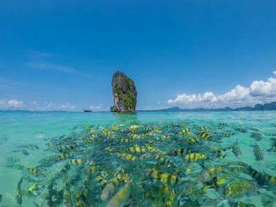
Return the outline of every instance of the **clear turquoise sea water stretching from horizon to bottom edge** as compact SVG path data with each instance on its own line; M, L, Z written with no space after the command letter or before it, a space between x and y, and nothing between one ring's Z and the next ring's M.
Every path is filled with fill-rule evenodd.
M64 201L65 184L72 206L78 192L83 206L106 206L112 195L102 200L101 191L122 168L126 175L115 193L127 178L132 181L126 206L231 206L237 201L276 206L276 150L270 150L276 145L275 111L0 112L0 117L0 206L19 206L20 195L21 206L34 206L33 201L70 206ZM231 148L235 143L240 158ZM257 160L255 144L264 159ZM176 155L174 150L180 153L181 148L188 152ZM195 153L206 159L186 158ZM82 164L70 164L71 159ZM60 175L66 165L70 169ZM201 172L213 168L212 180L196 182Z

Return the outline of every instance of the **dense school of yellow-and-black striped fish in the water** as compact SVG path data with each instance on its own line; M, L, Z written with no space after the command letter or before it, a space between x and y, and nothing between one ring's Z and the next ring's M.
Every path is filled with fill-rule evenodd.
M264 151L275 155L276 133L269 135L271 148L260 148L264 137L257 128L226 123L131 121L72 130L77 128L44 138L48 156L37 164L22 166L16 156L6 160L21 177L14 186L17 204L30 199L50 207L257 206L250 198L262 194L262 206L276 205L276 177L240 161L239 139L248 135L252 157L262 162ZM28 159L30 150L39 147L17 146L10 155Z

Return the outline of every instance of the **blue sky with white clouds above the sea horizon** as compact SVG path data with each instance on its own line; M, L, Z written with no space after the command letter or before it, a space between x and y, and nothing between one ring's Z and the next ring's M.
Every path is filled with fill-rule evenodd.
M0 110L276 101L276 1L0 1Z

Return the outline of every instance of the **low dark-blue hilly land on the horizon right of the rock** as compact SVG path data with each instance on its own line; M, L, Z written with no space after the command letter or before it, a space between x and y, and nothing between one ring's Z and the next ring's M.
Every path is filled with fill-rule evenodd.
M262 104L256 104L255 107L251 106L245 106L241 108L178 108L178 107L172 107L172 108L164 108L164 109L157 109L157 110L137 110L141 112L199 112L199 111L248 111L248 110L276 110L276 101L272 103L265 103Z

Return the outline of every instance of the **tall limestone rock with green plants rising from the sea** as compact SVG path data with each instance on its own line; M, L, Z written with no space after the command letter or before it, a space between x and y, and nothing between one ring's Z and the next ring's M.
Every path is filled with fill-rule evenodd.
M137 90L129 77L124 72L117 71L112 78L112 93L114 106L112 112L134 112L137 103Z

